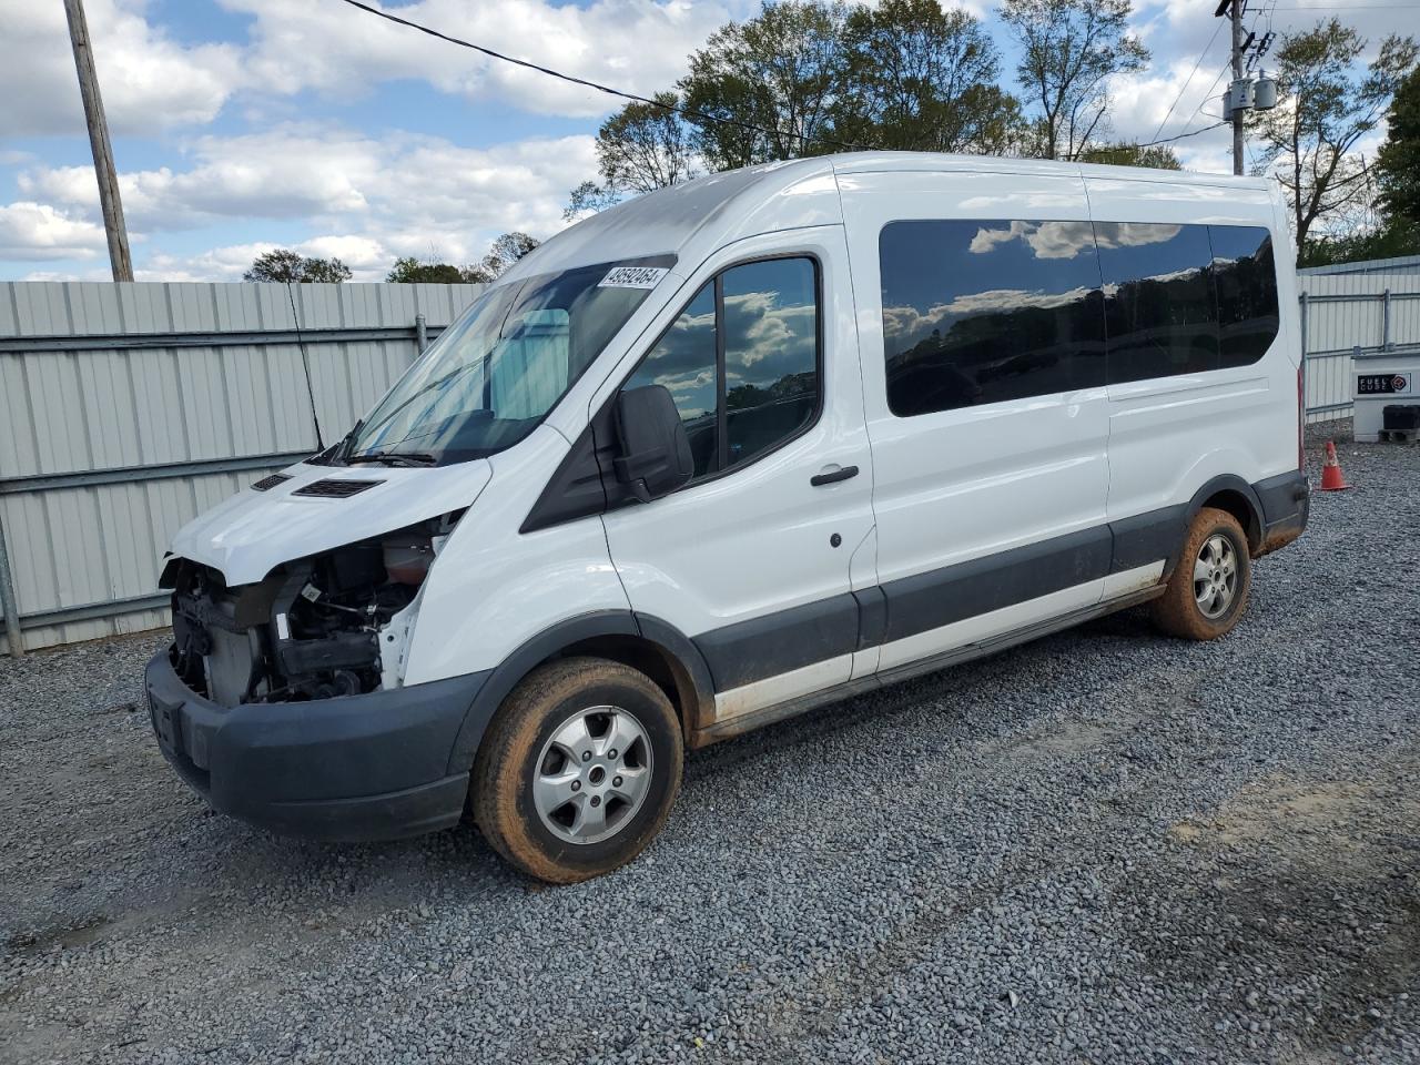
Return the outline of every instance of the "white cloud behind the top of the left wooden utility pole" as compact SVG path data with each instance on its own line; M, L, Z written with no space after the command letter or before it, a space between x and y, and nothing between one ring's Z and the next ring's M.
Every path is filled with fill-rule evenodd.
M187 47L169 40L142 0L88 0L89 38L104 109L115 135L209 122L243 72L230 44ZM64 6L0 0L0 136L84 133L78 77Z

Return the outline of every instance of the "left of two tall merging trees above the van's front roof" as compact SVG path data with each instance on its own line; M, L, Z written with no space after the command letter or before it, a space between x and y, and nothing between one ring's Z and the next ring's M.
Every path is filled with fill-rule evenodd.
M690 57L680 92L687 109L719 119L692 138L711 169L838 149L828 138L849 85L846 18L836 1L765 3L754 18L716 30Z

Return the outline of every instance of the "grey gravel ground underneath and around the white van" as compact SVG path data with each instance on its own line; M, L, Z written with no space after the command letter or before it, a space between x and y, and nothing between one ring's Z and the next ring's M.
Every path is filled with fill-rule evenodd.
M156 638L3 662L0 1059L1420 1061L1420 449L1342 459L1227 639L1129 612L697 753L577 888L212 814Z

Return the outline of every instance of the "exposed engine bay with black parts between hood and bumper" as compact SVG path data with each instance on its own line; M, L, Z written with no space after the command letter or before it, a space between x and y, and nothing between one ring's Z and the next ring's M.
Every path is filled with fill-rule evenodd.
M175 558L173 667L220 703L283 703L392 687L419 588L462 511L285 562L260 584L229 588Z

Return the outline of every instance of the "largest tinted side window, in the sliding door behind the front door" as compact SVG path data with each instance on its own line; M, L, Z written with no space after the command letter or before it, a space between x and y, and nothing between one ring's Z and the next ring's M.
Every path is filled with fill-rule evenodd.
M1088 222L893 222L878 250L899 417L1105 383Z

